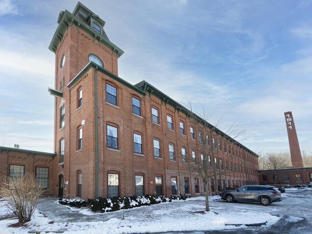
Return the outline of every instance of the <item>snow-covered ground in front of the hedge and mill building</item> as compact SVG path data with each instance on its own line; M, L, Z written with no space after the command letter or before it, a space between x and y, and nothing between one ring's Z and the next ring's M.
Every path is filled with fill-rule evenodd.
M282 194L283 196L284 194ZM211 197L214 203L219 196ZM63 232L64 234L133 234L150 232L185 232L241 229L249 224L265 223L265 227L275 224L280 217L244 209L228 209L211 206L210 212L205 212L205 197L189 198L186 201L173 201L156 205L120 210L109 213L92 213L88 209L68 209L57 202L57 199L42 200L53 210L59 210L69 219L58 214L53 215L48 209L37 208L33 219L23 227L12 228L9 225L17 223L16 218L3 219L9 211L0 201L0 234L25 234L28 232ZM283 202L283 201L281 201ZM262 207L259 205L259 207ZM71 217L71 219L70 219ZM3 219L3 220L1 220ZM239 226L240 225L240 226Z

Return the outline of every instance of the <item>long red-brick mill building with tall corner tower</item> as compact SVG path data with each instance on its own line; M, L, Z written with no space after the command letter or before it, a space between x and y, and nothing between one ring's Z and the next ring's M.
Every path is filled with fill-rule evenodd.
M204 143L214 152L207 159L215 173L212 194L257 183L254 152L148 82L132 85L118 77L123 51L98 15L78 2L73 13L60 12L58 23L49 46L56 55L55 87L48 89L55 97L54 195L204 195L189 166L203 160ZM208 131L198 130L203 125Z

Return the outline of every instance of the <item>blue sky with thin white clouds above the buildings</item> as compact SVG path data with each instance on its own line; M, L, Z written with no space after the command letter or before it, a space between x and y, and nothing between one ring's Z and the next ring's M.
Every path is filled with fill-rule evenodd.
M59 12L77 0L0 0L0 145L54 152ZM312 151L312 0L81 0L125 53L118 75L146 80L210 116L255 153L289 152L284 112ZM204 108L202 108L204 106ZM221 121L219 121L221 119Z

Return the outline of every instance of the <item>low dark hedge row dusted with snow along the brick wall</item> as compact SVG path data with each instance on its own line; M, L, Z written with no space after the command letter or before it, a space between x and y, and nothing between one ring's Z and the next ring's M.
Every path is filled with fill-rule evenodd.
M112 197L96 199L78 199L78 198L60 198L59 203L78 208L89 208L93 212L111 212L121 209L131 209L134 207L148 206L161 202L172 202L172 200L185 200L189 195L173 195L171 197L145 195L145 196L129 196L129 197Z

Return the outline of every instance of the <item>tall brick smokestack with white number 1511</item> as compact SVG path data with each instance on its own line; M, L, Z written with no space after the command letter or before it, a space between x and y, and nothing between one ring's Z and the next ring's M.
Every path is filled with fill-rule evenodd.
M289 148L291 151L292 167L294 168L303 167L298 137L297 137L296 128L294 126L294 121L292 117L292 112L291 111L285 112L284 115L285 115L285 121L286 121L286 126L287 126Z

